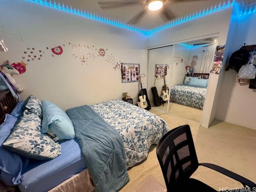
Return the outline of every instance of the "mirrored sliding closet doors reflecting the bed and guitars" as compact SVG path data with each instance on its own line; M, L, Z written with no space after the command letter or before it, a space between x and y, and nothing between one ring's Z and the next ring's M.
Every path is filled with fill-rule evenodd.
M200 124L216 42L217 36L148 50L152 107ZM152 87L161 100L166 87L169 99L156 106Z

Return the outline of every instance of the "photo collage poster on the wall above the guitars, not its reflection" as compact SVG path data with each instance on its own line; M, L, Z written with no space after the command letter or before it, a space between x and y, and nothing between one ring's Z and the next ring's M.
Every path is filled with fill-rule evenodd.
M140 64L121 63L122 83L138 82Z

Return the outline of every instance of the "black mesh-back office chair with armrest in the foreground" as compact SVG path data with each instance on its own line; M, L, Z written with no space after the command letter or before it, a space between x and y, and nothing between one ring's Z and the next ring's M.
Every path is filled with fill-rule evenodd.
M210 163L198 163L189 125L182 125L164 134L156 147L168 192L198 191L216 192L203 182L190 178L198 166L205 166L240 182L243 191L253 191L256 184L234 172ZM248 190L250 188L250 190ZM229 190L230 191L230 190ZM235 190L234 190L235 191ZM238 191L236 189L236 191ZM240 190L239 190L240 191Z

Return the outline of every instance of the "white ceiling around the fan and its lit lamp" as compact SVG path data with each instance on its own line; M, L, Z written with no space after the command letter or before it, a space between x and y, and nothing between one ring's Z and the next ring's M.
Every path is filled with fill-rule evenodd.
M110 1L110 0L100 0ZM123 0L113 0L113 1L123 1ZM128 0L126 0L128 1ZM143 0L142 0L143 1ZM231 2L232 0L230 0ZM248 5L248 1L255 0L236 0L240 5ZM117 20L120 22L127 23L133 16L138 12L143 10L145 5L133 5L133 6L124 6L119 8L110 8L102 10L98 4L97 0L55 0L56 4L68 6L76 10L83 10L97 14L98 16L106 17L109 19ZM228 0L190 0L189 2L172 2L169 0L164 6L168 6L175 18L181 18L196 12L202 12L203 10L210 9L211 7L223 5L224 2ZM147 10L146 14L136 23L134 26L138 26L143 29L151 29L157 26L164 24L164 20L160 16L160 10L158 11L149 11Z

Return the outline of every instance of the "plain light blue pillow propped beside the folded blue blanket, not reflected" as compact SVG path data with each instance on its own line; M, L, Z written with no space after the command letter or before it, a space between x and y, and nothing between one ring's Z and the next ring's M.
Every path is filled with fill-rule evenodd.
M75 138L74 126L68 115L61 108L51 102L42 100L42 110L42 133L50 130L60 140Z

